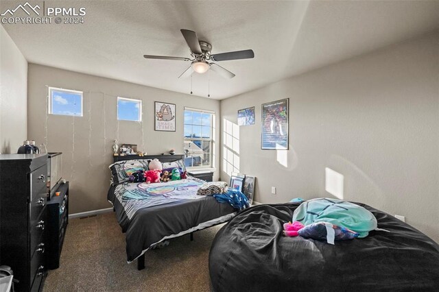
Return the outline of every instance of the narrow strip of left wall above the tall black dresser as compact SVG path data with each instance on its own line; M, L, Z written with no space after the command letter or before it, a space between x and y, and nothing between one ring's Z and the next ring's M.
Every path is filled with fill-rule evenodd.
M0 25L0 153L16 153L27 136L27 61Z

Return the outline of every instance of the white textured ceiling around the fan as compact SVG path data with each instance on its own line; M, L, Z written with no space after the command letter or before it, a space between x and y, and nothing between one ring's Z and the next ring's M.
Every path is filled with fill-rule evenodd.
M1 1L0 10L24 1ZM36 1L38 3L42 1ZM211 98L224 99L285 77L358 56L439 27L439 1L45 1L85 7L83 25L3 25L25 58L156 88L189 93L178 80L189 57L180 29L213 45L213 53L253 49L249 60L219 62L236 77L211 72ZM208 74L193 75L207 96Z

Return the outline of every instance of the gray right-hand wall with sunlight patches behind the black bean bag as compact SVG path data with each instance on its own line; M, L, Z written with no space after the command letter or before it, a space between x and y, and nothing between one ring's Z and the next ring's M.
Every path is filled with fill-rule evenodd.
M239 128L234 153L239 171L257 176L256 201L333 197L329 167L344 175L344 199L403 215L439 242L438 40L424 36L223 100L222 119L233 123L237 110L256 106L256 124ZM289 150L261 150L261 104L286 97Z

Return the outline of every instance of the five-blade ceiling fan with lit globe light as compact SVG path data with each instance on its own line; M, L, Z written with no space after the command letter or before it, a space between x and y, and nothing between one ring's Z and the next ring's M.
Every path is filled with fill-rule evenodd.
M235 74L213 62L254 58L254 53L251 49L246 49L244 51L229 51L227 53L216 53L215 55L212 55L212 45L209 44L209 42L198 40L197 34L191 30L180 29L180 32L185 38L189 49L191 49L191 59L152 55L143 55L143 57L147 59L191 62L191 66L189 66L189 68L186 69L185 72L183 72L178 78L189 77L192 75L193 71L201 74L206 73L209 69L212 69L222 77L233 78L235 77Z

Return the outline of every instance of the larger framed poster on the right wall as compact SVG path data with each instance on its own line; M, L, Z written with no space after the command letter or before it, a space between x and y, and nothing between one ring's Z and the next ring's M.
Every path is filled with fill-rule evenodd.
M288 149L288 100L262 105L261 149Z

